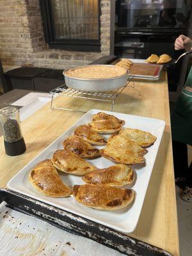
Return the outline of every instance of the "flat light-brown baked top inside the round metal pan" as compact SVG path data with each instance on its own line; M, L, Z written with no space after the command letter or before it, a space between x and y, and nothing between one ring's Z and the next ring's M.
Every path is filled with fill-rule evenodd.
M127 74L124 67L113 65L89 65L85 67L70 68L64 72L69 77L83 79L106 79Z

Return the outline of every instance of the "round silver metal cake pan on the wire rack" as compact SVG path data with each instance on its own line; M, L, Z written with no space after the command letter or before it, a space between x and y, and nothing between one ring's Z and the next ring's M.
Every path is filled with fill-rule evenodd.
M95 66L95 65L94 65ZM103 66L109 66L111 65L103 65ZM85 67L85 66L83 66ZM80 68L80 67L78 67ZM127 83L127 79L129 76L128 70L127 73L123 76L118 77L112 77L112 78L106 78L106 79L84 79L84 78L77 78L77 77L69 77L65 74L67 70L70 68L67 68L63 71L63 76L65 76L65 84L73 88L75 90L81 91L81 92L108 92L113 91L118 88L121 88L125 86Z

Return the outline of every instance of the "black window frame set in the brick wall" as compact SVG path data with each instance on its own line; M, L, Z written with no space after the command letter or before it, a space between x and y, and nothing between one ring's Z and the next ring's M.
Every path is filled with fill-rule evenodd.
M100 52L100 0L98 0L99 39L56 39L51 0L40 0L45 42L51 49L65 51Z

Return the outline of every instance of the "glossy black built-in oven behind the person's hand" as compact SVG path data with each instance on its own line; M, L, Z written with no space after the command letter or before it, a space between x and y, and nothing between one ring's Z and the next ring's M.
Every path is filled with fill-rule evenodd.
M146 59L150 54L182 53L174 50L175 38L188 35L191 0L116 0L115 54L122 58ZM168 68L170 90L176 90L180 66Z

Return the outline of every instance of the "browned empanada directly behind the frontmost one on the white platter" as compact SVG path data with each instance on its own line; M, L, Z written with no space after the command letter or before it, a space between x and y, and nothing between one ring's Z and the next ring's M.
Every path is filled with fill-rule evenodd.
M89 184L106 184L120 187L133 182L134 171L125 164L116 164L108 168L95 170L82 179Z

